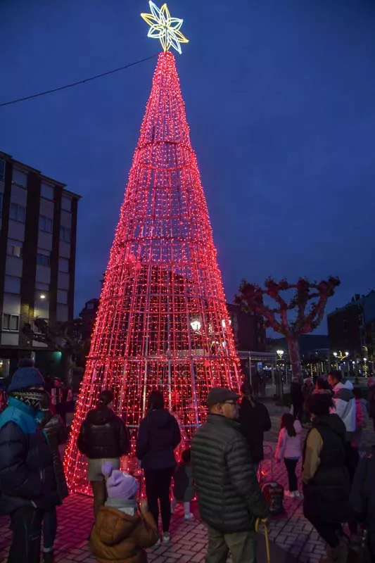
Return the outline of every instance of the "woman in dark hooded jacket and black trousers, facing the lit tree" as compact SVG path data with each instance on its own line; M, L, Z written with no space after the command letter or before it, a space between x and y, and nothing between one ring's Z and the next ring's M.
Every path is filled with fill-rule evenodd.
M156 524L160 501L164 543L170 541L170 485L176 467L174 450L180 442L179 424L165 410L163 393L151 391L147 415L139 424L136 457L144 469L148 507Z

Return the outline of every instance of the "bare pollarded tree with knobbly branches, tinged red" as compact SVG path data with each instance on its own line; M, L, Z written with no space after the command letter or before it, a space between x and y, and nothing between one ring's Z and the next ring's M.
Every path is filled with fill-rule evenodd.
M239 293L235 296L235 303L243 310L254 311L265 318L266 326L283 334L288 343L289 358L293 376L300 377L300 350L298 339L317 327L323 320L326 302L333 296L340 284L337 277L327 280L311 282L300 278L296 284L289 284L286 279L277 282L272 278L265 281L265 289L255 284L249 284L243 279ZM293 291L293 295L283 297L284 292ZM276 306L265 303L265 298L271 298Z

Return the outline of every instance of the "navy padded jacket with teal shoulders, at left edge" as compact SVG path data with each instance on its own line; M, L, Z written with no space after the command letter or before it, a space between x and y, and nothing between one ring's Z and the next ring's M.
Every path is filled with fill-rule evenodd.
M60 503L53 459L37 410L13 397L0 415L0 512L32 502L42 510Z

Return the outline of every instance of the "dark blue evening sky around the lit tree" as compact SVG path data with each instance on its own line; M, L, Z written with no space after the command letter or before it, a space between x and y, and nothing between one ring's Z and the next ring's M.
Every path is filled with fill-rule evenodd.
M372 289L374 1L168 6L190 39L177 68L228 300L269 275L338 275L329 310ZM158 52L141 11L2 0L0 102ZM99 293L155 62L0 108L0 149L82 195L77 311Z

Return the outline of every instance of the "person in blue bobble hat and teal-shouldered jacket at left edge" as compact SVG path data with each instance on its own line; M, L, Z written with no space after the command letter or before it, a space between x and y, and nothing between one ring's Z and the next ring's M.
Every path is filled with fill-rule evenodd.
M11 517L9 563L39 563L43 513L59 504L53 459L38 424L44 379L22 360L0 415L0 514Z

